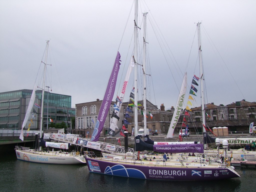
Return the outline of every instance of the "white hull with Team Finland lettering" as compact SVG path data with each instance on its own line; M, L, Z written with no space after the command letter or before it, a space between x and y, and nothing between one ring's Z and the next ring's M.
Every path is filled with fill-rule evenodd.
M29 152L23 150L15 150L18 160L46 163L46 164L83 164L86 163L83 156L70 156L69 154L54 154L52 152Z

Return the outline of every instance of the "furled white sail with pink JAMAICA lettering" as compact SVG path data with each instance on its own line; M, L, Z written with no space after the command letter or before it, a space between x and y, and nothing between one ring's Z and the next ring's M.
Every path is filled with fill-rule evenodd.
M124 78L122 90L119 94L119 97L117 98L117 101L118 101L117 106L118 106L118 109L119 109L119 110L116 110L116 113L115 113L117 116L119 116L121 106L122 106L122 102L123 102L123 98L124 98L124 94L125 94L125 91L126 91L126 87L127 87L127 84L128 84L129 78L130 78L130 74L131 74L133 68L134 68L134 59L133 59L133 57L131 57L129 67L128 67L128 70L126 72L125 78ZM115 128L116 128L117 121L118 121L117 118L113 118L113 117L111 118L111 121L110 121L111 123L110 123L110 127L108 129L108 134L110 134L112 136L115 136Z

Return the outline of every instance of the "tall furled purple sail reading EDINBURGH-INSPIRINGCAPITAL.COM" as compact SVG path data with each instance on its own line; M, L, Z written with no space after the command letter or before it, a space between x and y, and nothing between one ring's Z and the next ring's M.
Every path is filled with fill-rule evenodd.
M92 133L92 138L91 141L99 141L100 133L103 129L104 122L106 120L106 116L108 114L109 108L111 101L113 99L114 93L115 93L115 86L116 86L116 81L117 81L117 76L120 68L120 53L118 51L115 59L115 63L109 78L108 86L104 95L104 98L101 103L101 107L99 110L99 116L96 121L93 133Z

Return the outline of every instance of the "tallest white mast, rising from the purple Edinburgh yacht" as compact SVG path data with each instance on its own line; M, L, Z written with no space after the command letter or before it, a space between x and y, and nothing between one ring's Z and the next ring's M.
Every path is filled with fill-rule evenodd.
M138 59L138 48L137 48L137 41L138 41L138 1L135 0L135 14L134 14L134 135L138 135L138 65L137 65L137 59Z

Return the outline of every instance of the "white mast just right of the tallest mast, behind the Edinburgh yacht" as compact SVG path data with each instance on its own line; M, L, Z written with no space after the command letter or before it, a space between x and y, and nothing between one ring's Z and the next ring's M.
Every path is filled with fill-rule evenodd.
M144 34L143 34L143 111L144 114L147 114L147 101L146 101L146 19L147 13L143 14L144 16ZM147 134L147 117L143 116L144 121L144 138Z

